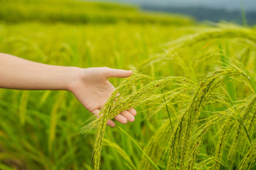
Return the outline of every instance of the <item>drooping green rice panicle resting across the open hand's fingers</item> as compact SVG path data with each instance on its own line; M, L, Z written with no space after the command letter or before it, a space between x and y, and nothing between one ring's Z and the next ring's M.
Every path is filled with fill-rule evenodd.
M142 82L151 80L150 83L148 83L146 86L139 89L135 94L126 95L124 97L123 94L126 94L127 91L131 90L133 86L136 86L138 84L141 84ZM163 97L163 94L156 94L167 86L167 84L189 84L189 80L186 80L184 78L179 77L169 77L164 78L160 80L154 80L153 78L150 78L149 76L141 75L141 74L135 74L131 76L130 78L127 78L124 80L113 92L112 96L109 98L107 103L105 104L104 108L102 109L101 113L102 116L98 119L94 119L94 121L90 122L90 124L85 125L82 127L81 132L86 133L86 130L92 130L94 128L97 128L98 132L96 135L96 143L94 145L94 169L98 169L100 167L100 155L101 155L101 147L102 147L102 140L104 138L105 134L105 128L106 128L106 121L110 118L114 118L117 114L119 114L122 111L125 111L129 108L138 107L139 105L143 103L152 103L154 100L159 99L160 97ZM128 88L127 88L128 87ZM121 94L118 97L118 92ZM151 95L150 97L148 97ZM167 94L165 94L167 95ZM115 102L114 102L115 100ZM107 112L107 113L106 113ZM100 113L100 115L101 115Z

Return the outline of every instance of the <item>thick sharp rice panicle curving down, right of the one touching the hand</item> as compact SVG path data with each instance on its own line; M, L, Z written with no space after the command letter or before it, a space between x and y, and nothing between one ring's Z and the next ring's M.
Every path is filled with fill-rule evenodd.
M192 130L196 125L196 120L198 120L200 111L203 108L203 105L207 98L209 97L210 92L212 91L212 83L216 78L223 76L219 81L221 82L228 76L241 75L243 72L238 70L237 67L230 67L227 69L222 69L214 71L213 73L208 74L203 81L200 83L200 86L197 88L195 95L189 104L188 108L180 116L174 133L171 135L171 139L168 143L167 150L168 152L168 162L167 169L175 169L176 163L175 155L180 155L180 169L183 169L185 166L186 156L188 155L188 139L191 136ZM181 138L181 142L177 142ZM176 145L177 143L177 145ZM176 145L176 146L175 146Z

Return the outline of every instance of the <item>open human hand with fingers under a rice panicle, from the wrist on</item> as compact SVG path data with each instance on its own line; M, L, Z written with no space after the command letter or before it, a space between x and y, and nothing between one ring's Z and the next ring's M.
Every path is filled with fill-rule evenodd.
M72 92L88 111L98 117L100 109L115 90L108 78L126 78L131 76L132 73L132 71L110 69L108 67L81 69L77 79L68 83L68 91ZM121 112L114 119L121 124L126 124L127 121L133 122L136 114L135 109L131 108ZM108 120L107 125L114 127L115 122Z

